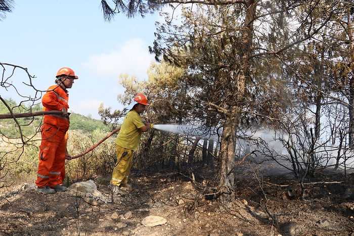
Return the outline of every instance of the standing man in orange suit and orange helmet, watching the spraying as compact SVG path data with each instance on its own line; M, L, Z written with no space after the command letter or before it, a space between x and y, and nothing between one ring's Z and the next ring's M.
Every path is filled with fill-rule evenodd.
M41 144L37 170L37 191L41 194L55 194L66 191L62 183L62 171L65 166L66 138L69 129L68 88L78 79L75 72L60 68L56 75L56 84L48 88L42 98L44 111L61 111L62 115L45 115L40 128Z

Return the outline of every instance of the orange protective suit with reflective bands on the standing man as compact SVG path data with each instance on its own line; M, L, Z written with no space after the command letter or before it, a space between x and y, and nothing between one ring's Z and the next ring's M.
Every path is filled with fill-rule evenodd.
M42 98L44 111L68 110L69 95L67 90L56 84L48 88ZM60 115L45 115L40 128L41 144L36 185L53 187L62 182L65 171L66 139L69 118ZM65 173L64 173L65 176Z

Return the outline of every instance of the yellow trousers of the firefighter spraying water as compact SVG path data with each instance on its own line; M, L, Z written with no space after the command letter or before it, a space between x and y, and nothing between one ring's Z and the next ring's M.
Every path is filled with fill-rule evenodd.
M133 151L116 145L117 162L114 165L111 184L119 186L127 183L130 174Z

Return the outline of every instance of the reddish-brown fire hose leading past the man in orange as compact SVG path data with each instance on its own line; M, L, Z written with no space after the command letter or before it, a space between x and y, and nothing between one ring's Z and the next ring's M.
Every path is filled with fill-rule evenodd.
M11 119L11 118L23 118L23 117L31 117L31 116L42 116L42 115L61 115L63 114L61 111L40 111L40 112L28 112L28 113L13 113L13 114L0 114L0 119ZM118 132L120 130L120 127L113 130L110 132L106 137L104 137L101 141L99 141L96 145L94 145L92 148L86 150L85 152L71 157L69 160L81 157L92 150L94 150L97 146L102 144L107 138L112 136L112 134Z

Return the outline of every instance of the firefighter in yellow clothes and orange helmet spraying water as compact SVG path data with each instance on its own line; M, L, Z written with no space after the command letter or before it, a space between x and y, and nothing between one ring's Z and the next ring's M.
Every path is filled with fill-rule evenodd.
M148 99L140 93L135 96L134 101L127 107L130 110L126 114L115 140L117 161L111 178L113 194L120 192L119 187L126 187L131 190L131 186L127 182L132 156L139 147L142 132L146 132L151 128L151 124L144 124L140 116L145 111L146 106L149 106Z

